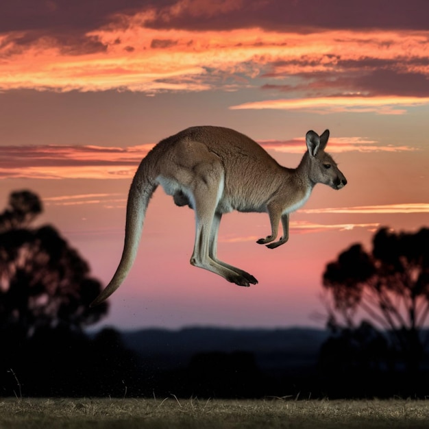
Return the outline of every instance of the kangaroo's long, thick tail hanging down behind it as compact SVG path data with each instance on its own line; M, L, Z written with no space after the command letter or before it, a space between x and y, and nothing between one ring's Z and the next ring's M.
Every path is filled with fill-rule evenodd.
M91 307L101 304L101 302L110 297L121 286L136 259L149 199L158 186L153 178L148 177L143 164L144 162L140 164L132 181L130 193L128 194L125 243L123 245L121 262L119 262L112 280L110 280L106 288L90 304Z

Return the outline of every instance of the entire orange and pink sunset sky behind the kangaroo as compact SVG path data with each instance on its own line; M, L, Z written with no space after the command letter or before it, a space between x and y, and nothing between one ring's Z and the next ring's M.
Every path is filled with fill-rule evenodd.
M194 215L161 188L102 325L323 326L321 274L380 226L429 225L426 0L20 0L0 3L0 202L28 188L103 285L123 247L141 158L221 125L296 167L308 130L348 180L318 185L289 242L266 214L225 215L219 257L241 288L189 264ZM258 180L258 177L255 177Z

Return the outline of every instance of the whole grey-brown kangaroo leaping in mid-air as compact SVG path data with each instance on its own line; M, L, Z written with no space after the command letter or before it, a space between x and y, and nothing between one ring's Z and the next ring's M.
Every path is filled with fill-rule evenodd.
M138 249L149 199L158 185L177 206L195 210L191 265L219 274L238 286L257 284L253 275L217 258L223 213L267 212L271 234L256 243L275 249L289 238L289 214L310 197L315 184L341 189L347 180L324 150L329 130L306 134L307 151L296 169L282 167L251 138L223 127L191 127L161 140L140 163L127 200L125 243L119 267L91 306L116 291ZM279 223L283 235L278 240Z

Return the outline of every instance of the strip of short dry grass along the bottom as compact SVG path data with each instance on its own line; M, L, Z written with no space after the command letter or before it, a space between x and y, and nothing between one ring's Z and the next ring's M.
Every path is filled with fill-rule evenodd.
M3 399L9 428L429 428L429 401Z

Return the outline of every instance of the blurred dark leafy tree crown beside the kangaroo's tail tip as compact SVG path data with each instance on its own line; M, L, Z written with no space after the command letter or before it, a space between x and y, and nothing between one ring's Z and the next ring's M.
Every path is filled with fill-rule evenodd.
M0 215L0 326L24 336L60 325L80 331L107 312L88 305L101 284L55 228L24 228L41 211L38 196L21 191Z

